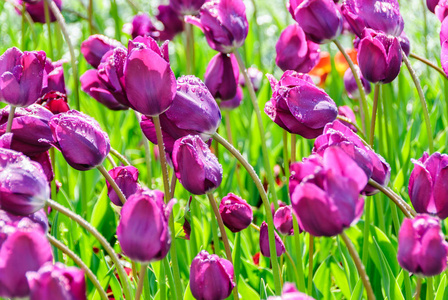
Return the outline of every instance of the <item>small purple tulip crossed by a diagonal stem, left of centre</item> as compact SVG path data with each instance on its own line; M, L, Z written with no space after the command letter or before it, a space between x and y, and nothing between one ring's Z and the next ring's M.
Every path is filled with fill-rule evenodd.
M142 187L138 184L138 169L136 167L115 167L109 171L109 175L115 180L126 199L142 190ZM113 204L123 206L109 182L107 182L107 191Z

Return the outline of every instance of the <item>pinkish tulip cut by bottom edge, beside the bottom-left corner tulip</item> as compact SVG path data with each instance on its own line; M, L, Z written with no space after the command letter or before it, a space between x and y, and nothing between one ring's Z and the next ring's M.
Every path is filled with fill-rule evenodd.
M62 263L45 263L38 271L27 272L30 300L85 300L84 271Z

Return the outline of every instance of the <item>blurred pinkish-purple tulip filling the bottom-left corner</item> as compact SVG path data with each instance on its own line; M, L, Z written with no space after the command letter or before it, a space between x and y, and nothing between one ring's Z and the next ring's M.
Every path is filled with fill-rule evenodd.
M50 243L40 229L13 230L0 246L0 297L29 296L26 273L52 260Z

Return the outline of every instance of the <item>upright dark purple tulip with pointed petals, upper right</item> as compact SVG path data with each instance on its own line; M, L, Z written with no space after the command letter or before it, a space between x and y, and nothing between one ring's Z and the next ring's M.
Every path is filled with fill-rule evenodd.
M365 79L392 82L400 73L402 55L398 38L366 29L358 48L358 63Z

